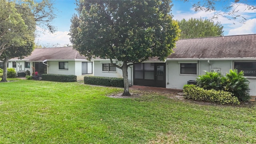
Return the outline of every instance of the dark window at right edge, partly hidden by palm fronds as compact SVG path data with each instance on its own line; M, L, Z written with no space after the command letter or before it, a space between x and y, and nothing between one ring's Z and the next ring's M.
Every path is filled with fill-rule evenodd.
M244 71L244 76L256 76L256 62L234 62L238 72Z

